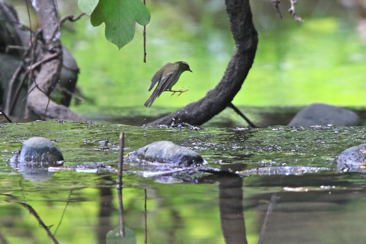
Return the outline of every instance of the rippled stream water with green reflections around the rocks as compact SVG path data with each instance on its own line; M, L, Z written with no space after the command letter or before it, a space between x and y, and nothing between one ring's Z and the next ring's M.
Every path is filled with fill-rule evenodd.
M23 140L43 136L56 140L65 166L102 163L116 168L115 149L124 132L125 153L169 140L199 152L208 166L219 169L303 167L296 174L206 175L197 183L162 184L126 166L124 221L137 243L144 243L145 235L151 244L363 243L365 175L341 173L333 160L364 143L365 131L337 126L197 131L57 121L2 124L0 240L117 243L107 235L119 225L114 171L35 173L12 169L8 160ZM100 143L106 139L107 145Z

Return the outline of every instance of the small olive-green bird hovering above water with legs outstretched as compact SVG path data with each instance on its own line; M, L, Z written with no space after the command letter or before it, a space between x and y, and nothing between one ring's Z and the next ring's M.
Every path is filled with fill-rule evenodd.
M154 89L153 94L149 97L149 99L147 99L144 106L151 107L151 105L153 104L155 99L157 99L161 95L161 93L163 93L165 91L173 92L172 96L176 92L180 92L180 94L182 94L183 92L186 92L187 90L184 90L184 91L183 90L172 90L173 85L175 85L175 83L177 83L180 75L184 71L193 72L189 68L189 65L186 62L178 61L175 63L164 64L163 67L161 67L158 71L156 71L153 78L151 78L151 85L149 88L149 92L151 89L153 89L156 82L158 82L158 85Z

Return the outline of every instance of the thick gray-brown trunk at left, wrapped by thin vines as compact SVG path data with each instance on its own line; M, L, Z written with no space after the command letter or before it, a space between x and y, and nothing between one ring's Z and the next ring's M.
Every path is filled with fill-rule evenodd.
M42 30L41 53L38 55L38 60L42 60L42 63L35 80L28 87L27 108L44 120L85 120L66 106L57 104L48 97L59 80L62 65L60 22L55 1L32 0L32 5L36 10Z

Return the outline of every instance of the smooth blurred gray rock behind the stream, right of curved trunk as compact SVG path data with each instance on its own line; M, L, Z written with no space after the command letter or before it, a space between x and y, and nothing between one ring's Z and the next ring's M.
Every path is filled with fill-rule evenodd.
M360 119L355 112L327 104L311 104L300 110L287 126L313 125L359 126Z

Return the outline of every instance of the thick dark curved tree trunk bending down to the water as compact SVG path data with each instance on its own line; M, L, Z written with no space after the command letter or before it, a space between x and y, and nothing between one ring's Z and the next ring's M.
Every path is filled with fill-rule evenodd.
M223 111L239 92L253 64L258 36L253 25L249 0L225 0L225 5L236 50L220 83L201 100L147 125L182 122L201 125Z

